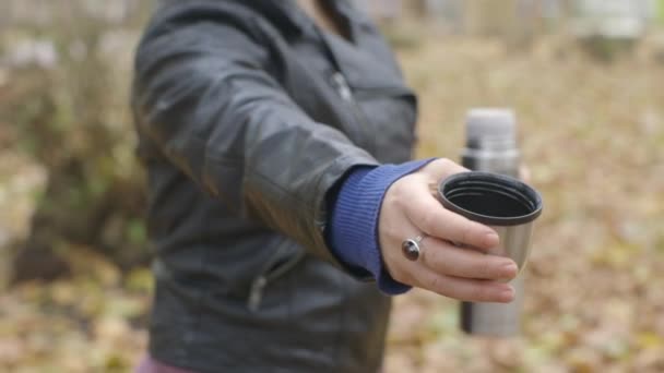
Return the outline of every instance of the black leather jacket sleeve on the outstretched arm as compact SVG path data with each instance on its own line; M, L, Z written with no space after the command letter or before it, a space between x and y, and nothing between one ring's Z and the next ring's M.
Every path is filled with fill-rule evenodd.
M139 131L238 216L340 266L324 240L327 195L377 161L303 112L250 31L206 9L171 13L153 20L137 52Z

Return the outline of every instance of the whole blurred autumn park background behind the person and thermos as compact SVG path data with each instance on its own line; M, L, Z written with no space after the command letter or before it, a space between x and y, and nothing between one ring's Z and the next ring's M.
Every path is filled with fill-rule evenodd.
M664 1L357 0L420 96L419 156L511 107L545 195L524 333L396 299L388 372L664 371ZM602 5L604 4L604 5ZM152 294L128 107L153 1L0 3L0 371L129 371Z

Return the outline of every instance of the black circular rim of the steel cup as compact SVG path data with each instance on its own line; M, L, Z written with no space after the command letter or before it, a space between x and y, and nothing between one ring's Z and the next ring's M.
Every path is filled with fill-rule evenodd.
M519 193L521 196L527 197L530 202L533 204L532 212L525 215L520 216L510 216L510 217L499 217L499 216L489 216L484 214L478 214L469 209L465 209L454 203L452 203L446 196L446 188L453 183L460 183L463 181L484 181L500 184L503 188L507 188L511 193ZM471 220L489 225L489 226L499 226L499 227L510 227L510 226L520 226L524 224L529 224L535 220L542 214L542 209L544 207L544 203L542 200L542 195L534 188L524 183L519 179L514 179L512 177L493 173L493 172L484 172L484 171L470 171L470 172L461 172L452 175L444 180L442 180L438 184L438 196L441 200L442 205L461 216L464 216Z

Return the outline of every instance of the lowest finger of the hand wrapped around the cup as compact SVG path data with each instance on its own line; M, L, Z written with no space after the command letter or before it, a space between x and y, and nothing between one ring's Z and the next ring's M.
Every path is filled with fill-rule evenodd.
M505 282L441 276L424 267L416 276L419 287L461 301L509 303L514 300L514 288Z

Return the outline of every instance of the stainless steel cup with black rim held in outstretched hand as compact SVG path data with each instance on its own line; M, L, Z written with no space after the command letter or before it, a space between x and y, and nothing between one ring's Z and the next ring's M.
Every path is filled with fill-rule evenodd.
M447 178L438 192L447 209L498 232L500 244L489 254L510 257L523 269L543 207L536 190L511 177L473 171Z

